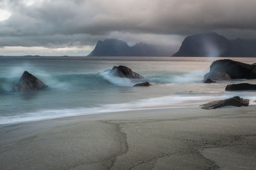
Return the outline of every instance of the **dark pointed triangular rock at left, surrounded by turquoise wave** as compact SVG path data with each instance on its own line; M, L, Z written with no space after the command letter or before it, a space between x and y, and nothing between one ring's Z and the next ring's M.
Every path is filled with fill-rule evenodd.
M29 92L33 90L42 90L45 89L47 85L32 74L28 73L28 71L24 71L22 76L20 77L19 82L13 87L13 91L15 92Z

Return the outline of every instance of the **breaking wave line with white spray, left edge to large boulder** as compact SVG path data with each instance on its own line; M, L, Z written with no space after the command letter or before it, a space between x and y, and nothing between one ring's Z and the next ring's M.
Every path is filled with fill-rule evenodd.
M150 81L152 83L191 83L202 80L204 72L192 73L150 73L143 80L135 80L129 78L119 78L113 76L109 71L103 73L61 73L51 70L45 71L45 68L36 67L31 64L22 64L22 66L10 67L0 76L0 93L10 92L12 87L19 81L21 74L24 71L34 74L40 80L44 81L50 89L67 90L72 88L84 89L86 87L104 87L104 86L120 86L132 87L136 83ZM153 76L152 76L153 75Z

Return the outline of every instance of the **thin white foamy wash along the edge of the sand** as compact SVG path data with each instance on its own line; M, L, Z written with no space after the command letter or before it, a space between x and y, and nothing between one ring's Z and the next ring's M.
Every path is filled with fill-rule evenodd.
M142 99L131 103L102 104L93 108L74 108L60 110L39 110L30 113L20 113L19 115L0 117L0 125L19 124L23 122L35 122L39 120L49 120L61 117L74 117L80 115L94 115L99 113L113 113L121 111L155 110L166 108L195 108L213 99L225 99L232 97L232 94L212 97L212 96L164 96L150 99ZM243 97L243 96L242 96ZM255 97L250 99L250 105L255 105Z

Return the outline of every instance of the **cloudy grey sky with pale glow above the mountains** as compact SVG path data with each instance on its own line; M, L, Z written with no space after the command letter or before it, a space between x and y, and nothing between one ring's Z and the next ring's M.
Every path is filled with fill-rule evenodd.
M256 38L255 0L0 0L0 55L85 56L98 40L167 45Z

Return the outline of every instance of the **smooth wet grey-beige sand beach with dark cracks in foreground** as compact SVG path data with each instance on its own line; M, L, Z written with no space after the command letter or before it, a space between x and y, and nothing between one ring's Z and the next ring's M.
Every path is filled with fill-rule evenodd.
M256 107L58 118L0 139L0 169L255 169Z

